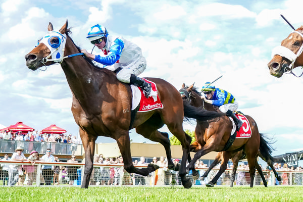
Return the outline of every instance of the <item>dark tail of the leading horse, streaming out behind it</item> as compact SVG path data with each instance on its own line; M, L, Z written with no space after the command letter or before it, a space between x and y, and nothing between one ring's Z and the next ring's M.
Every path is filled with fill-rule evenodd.
M221 116L223 113L211 112L201 108L191 106L188 102L183 100L184 120L196 119L197 121L207 121Z

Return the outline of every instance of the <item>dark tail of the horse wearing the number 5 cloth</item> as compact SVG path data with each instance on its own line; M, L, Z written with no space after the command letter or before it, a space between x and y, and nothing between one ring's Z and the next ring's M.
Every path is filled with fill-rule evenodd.
M266 140L268 139L268 140ZM271 144L274 143L273 139L270 139L266 137L264 134L260 133L260 154L262 156L262 159L265 162L268 162L269 160L272 162L277 162L277 159L271 156L273 150L275 150Z

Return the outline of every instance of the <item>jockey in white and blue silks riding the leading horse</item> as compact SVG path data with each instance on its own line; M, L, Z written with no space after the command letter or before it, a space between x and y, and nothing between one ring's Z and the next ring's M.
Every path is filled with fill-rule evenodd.
M81 49L86 57L104 65L117 73L117 79L123 83L139 86L148 98L151 85L145 80L137 77L146 68L146 59L136 44L123 37L109 36L109 33L102 25L92 26L87 34L88 40L99 49L102 49L105 56L89 54L86 49Z

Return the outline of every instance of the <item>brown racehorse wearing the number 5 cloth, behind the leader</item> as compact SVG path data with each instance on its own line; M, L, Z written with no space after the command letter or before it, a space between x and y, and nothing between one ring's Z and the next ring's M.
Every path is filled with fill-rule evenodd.
M210 111L217 111L218 108L214 107L211 104L205 103L204 100L200 97L200 93L193 87L193 84L189 87L185 87L183 83L182 89L179 90L182 99L189 102L190 105L195 107L204 108ZM250 138L237 138L235 139L232 146L226 151L222 151L225 147L227 140L231 134L232 122L229 118L220 117L213 121L197 121L197 125L195 128L195 138L191 144L190 150L196 152L196 155L192 162L198 160L201 156L209 153L210 151L220 151L216 156L214 162L210 165L209 169L202 176L202 180L207 177L211 169L213 169L220 161L222 161L221 167L217 175L210 181L207 186L213 187L217 182L221 174L226 170L229 159L231 158L233 161L233 170L231 176L231 186L235 180L235 174L237 170L237 165L239 160L243 159L247 156L248 165L249 165L249 174L250 174L250 187L253 186L254 176L256 169L258 170L263 183L267 186L267 182L263 175L262 169L258 164L257 156L259 155L264 161L268 163L268 165L273 169L275 176L280 181L281 177L278 176L278 173L274 169L273 161L274 158L271 156L272 147L269 145L268 141L266 141L263 137L263 134L259 133L257 123L250 116L247 116L249 120L249 124L251 127L252 135ZM243 127L243 126L242 126ZM259 142L259 143L258 143ZM260 149L260 151L259 151ZM248 155L246 155L248 152ZM197 155L198 154L198 155ZM192 163L190 163L192 164ZM192 169L193 177L195 179L198 178L198 174L194 169L194 165L188 165L188 170Z

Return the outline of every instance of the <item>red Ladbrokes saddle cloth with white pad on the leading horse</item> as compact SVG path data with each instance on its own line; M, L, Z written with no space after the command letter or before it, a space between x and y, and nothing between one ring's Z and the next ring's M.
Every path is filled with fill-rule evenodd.
M138 112L148 112L156 109L163 109L163 105L158 96L157 86L154 82L144 79L146 82L151 84L151 92L148 98L145 97L142 89L135 85L130 85L133 99L132 99L132 108L134 110L140 105Z

